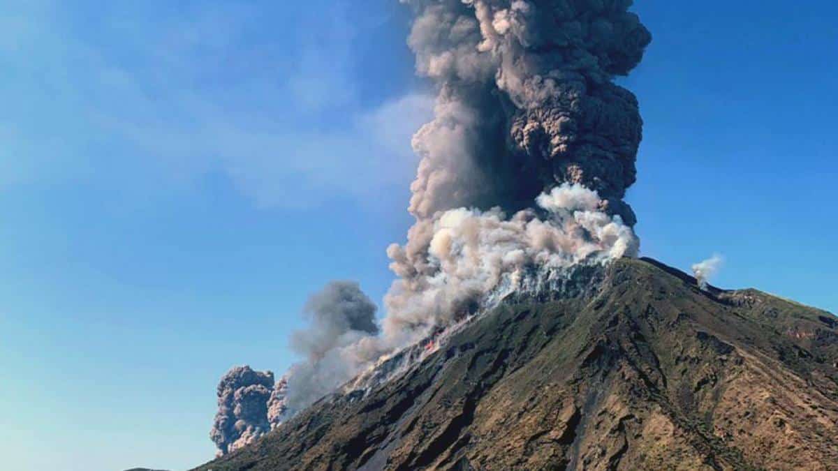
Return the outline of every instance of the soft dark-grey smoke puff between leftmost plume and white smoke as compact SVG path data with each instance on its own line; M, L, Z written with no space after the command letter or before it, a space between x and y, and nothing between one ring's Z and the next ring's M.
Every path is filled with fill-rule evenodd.
M299 411L326 396L380 355L375 303L357 282L330 282L303 308L311 327L292 334L291 345L306 360L287 372L282 407Z

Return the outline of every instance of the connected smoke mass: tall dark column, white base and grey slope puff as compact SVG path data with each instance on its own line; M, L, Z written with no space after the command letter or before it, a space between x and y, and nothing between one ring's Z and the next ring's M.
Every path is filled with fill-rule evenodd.
M416 19L416 71L437 86L432 122L413 137L416 218L387 249L397 279L382 330L357 284L315 295L304 360L274 388L276 425L362 370L467 318L497 292L574 267L635 256L643 122L615 85L651 41L631 0L401 0ZM555 278L554 278L555 277ZM408 355L409 356L409 355Z

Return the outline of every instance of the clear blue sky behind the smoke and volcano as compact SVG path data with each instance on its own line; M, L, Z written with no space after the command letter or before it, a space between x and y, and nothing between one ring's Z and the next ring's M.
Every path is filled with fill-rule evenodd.
M661 2L622 80L644 255L830 311L838 6ZM309 292L380 300L428 114L395 0L0 6L0 455L211 458L215 385L278 372Z

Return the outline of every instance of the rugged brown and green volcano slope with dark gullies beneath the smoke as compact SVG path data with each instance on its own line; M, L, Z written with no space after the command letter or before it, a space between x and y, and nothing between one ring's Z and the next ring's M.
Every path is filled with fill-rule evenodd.
M579 293L198 469L838 469L838 318L650 260Z

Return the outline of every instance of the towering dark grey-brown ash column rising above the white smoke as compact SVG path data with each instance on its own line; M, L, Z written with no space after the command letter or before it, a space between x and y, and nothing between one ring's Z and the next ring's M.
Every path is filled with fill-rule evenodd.
M461 206L530 207L561 183L621 199L634 184L642 121L613 84L643 56L649 31L625 0L403 0L408 43L437 82L436 118L414 138L418 219Z

